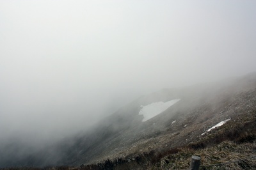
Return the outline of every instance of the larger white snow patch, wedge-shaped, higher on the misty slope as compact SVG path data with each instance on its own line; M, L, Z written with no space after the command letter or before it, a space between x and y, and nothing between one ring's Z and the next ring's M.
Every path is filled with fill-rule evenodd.
M140 110L139 114L144 116L142 121L150 120L151 118L157 116L161 112L171 107L173 104L179 102L180 99L170 100L168 102L156 102L149 105L141 105L142 109Z

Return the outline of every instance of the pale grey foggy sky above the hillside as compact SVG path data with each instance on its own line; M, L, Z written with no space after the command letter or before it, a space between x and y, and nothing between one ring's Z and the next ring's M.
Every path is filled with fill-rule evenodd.
M256 71L256 1L0 1L0 139ZM38 133L39 132L39 133Z

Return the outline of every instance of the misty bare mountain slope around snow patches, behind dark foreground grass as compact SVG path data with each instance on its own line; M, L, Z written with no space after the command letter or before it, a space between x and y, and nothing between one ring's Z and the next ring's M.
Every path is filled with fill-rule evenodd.
M141 105L177 98L180 98L177 104L142 122L143 117L138 114ZM255 104L255 73L214 84L163 89L122 107L100 122L97 129L93 130L93 135L82 136L78 144L81 146L80 155L72 165L90 164L108 158L128 158L144 151L190 144L200 140L202 133L220 121L229 118L230 122L237 121L236 117L240 114L255 111ZM97 139L91 141L90 148L84 150L88 143L83 140L91 136L97 136Z

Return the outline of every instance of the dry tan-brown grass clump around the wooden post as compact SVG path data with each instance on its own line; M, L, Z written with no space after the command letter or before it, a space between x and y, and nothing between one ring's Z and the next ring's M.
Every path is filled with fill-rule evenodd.
M256 142L237 144L231 141L225 141L220 144L207 147L200 150L192 148L181 148L179 153L167 155L160 162L148 169L189 169L192 155L201 157L200 169L256 169L256 158L250 158L256 153ZM209 166L212 164L221 164L242 160L231 164L221 166Z

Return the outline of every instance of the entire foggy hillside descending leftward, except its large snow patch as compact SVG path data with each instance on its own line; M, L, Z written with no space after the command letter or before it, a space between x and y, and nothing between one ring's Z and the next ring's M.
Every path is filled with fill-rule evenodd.
M147 121L143 121L143 115L139 114L143 106L157 102L163 105L172 100L177 102ZM221 121L226 122L212 128ZM16 160L12 157L9 160L11 157L1 154L0 167L79 167L81 164L92 167L105 160L112 163L119 160L110 169L124 169L124 165L127 169L184 169L189 165L176 164L177 167L173 167L173 154L185 162L189 162L193 154L201 155L204 165L215 161L208 160L217 153L212 149L214 147L221 148L226 156L229 152L231 154L230 150L225 150L226 146L247 147L251 151L246 153L247 156L255 155L255 125L256 73L250 73L236 79L162 89L143 96L120 108L90 130L52 144L29 157ZM208 150L208 155L205 150ZM216 153L211 153L211 150ZM239 149L235 150L238 154ZM185 156L181 157L181 153ZM229 156L232 157L232 154ZM209 162L205 162L204 157ZM222 160L219 158L218 161ZM253 164L255 166L255 161Z

